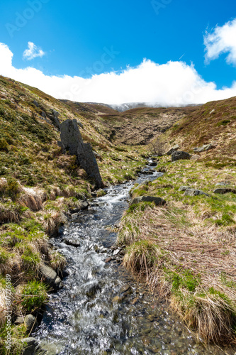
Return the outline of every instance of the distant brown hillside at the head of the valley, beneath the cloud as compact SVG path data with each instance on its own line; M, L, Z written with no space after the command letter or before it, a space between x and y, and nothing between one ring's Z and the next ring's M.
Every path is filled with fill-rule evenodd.
M118 112L102 104L82 104L66 100L63 102L94 124L99 122L99 132L109 141L129 146L146 145L186 114L198 109L198 107L169 109L142 107Z

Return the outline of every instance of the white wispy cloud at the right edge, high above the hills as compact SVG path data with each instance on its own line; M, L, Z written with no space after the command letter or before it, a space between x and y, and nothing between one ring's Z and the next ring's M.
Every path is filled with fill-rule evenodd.
M217 59L222 53L229 53L227 63L236 65L236 18L222 27L216 26L212 33L206 33L204 44L207 61Z

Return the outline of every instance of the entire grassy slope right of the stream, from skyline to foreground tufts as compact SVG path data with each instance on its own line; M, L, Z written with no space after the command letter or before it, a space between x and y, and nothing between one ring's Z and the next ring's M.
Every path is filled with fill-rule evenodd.
M159 157L164 175L136 186L132 197L162 197L167 204L131 205L118 236L126 245L124 265L167 297L201 339L223 344L236 343L235 110L235 97L210 102L159 137L167 148L179 143L195 156L173 163L170 155ZM207 143L213 143L209 151L193 151ZM206 195L190 196L186 187Z

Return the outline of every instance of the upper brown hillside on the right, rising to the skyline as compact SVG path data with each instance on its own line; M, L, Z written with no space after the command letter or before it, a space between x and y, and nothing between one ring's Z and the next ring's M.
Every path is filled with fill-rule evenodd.
M183 150L213 143L215 148L201 153L201 160L222 166L236 163L236 97L208 102L176 122L163 137L169 146L179 143ZM212 160L212 161L211 161Z

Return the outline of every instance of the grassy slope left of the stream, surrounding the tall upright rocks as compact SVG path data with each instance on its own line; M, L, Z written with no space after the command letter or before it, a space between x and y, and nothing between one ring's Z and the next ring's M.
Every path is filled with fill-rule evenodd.
M0 77L1 354L10 354L4 346L6 275L11 275L12 324L18 315L37 315L49 290L40 278L40 266L46 264L60 275L66 263L49 238L67 222L69 210L80 207L95 189L76 157L57 145L60 131L53 110L60 122L77 119L83 124L82 137L96 153L105 185L135 178L145 161L140 148L108 141L96 115L91 119L86 112L78 114L38 89ZM26 333L25 324L12 327L11 354L21 354L16 339Z

